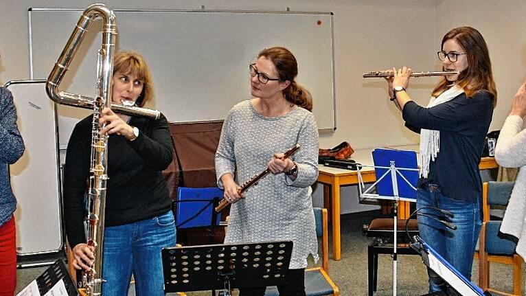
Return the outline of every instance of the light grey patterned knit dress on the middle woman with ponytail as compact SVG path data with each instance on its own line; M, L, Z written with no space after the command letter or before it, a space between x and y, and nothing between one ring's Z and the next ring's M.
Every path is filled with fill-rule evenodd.
M216 152L216 175L232 173L242 184L262 172L277 152L299 144L293 156L298 174L269 174L233 204L225 243L292 240L289 269L318 260L315 218L310 185L318 177L318 128L312 113L298 108L280 117L264 117L247 100L233 106L222 126Z

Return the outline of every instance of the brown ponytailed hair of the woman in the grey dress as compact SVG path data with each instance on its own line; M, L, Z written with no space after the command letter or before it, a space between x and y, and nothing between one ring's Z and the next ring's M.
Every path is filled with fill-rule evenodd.
M271 60L277 69L277 76L281 81L290 81L289 86L283 90L283 95L288 102L312 111L312 96L304 87L297 84L294 78L298 75L296 58L285 47L271 47L263 49L258 58L264 56Z

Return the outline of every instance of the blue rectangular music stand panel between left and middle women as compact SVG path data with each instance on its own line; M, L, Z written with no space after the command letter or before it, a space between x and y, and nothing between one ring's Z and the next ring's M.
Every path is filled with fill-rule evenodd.
M218 187L190 188L179 187L177 190L177 228L210 227L219 225L221 213L216 207L222 199L223 192Z

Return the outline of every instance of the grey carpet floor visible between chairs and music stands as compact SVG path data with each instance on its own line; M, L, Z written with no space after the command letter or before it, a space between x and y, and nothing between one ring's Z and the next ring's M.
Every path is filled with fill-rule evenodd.
M341 215L341 260L329 261L329 273L339 286L341 295L367 295L367 244L369 239L362 236L362 225L369 223L377 212L363 212ZM329 246L332 249L332 246ZM321 249L320 249L321 251ZM310 265L313 265L310 262ZM45 268L19 269L16 292L40 275ZM478 261L473 264L473 282L478 280ZM422 260L416 255L398 256L397 295L423 295L427 291L427 274ZM510 265L491 265L490 286L512 291L512 269ZM523 271L523 279L525 278ZM523 285L524 287L524 285ZM393 260L390 255L378 258L378 291L375 296L393 295ZM523 288L524 290L524 288ZM129 295L135 295L130 291ZM208 296L209 292L187 293L189 296ZM525 293L523 292L523 295Z

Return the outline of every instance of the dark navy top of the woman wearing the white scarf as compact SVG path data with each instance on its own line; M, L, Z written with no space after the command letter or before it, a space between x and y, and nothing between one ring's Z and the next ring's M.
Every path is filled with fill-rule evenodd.
M479 91L471 98L461 93L431 108L413 101L404 105L402 115L409 129L440 131L440 150L419 186L437 184L444 195L458 201L475 202L481 196L479 163L493 115L492 99L488 91Z

